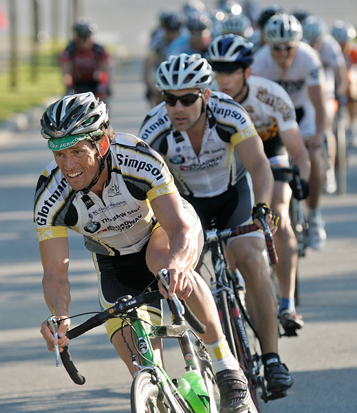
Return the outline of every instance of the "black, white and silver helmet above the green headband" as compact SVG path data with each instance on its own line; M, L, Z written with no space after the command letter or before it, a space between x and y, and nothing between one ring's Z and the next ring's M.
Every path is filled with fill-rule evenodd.
M96 133L109 125L105 103L92 92L64 96L47 107L41 118L45 139Z

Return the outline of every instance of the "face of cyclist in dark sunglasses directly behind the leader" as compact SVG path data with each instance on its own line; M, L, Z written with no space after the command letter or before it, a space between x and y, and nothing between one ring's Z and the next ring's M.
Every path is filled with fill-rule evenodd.
M199 89L168 90L167 92L175 96L184 96L186 94L199 94ZM169 114L173 127L178 131L187 131L195 125L202 114L202 100L204 100L204 105L206 105L209 96L210 92L206 90L202 97L198 98L190 106L182 105L180 100L177 100L175 106L166 104L167 114Z

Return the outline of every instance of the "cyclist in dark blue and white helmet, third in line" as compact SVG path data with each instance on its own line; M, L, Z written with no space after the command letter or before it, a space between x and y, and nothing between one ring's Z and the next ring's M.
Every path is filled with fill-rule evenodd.
M292 165L298 165L301 171L303 196L306 198L310 161L288 94L283 87L267 78L251 76L253 49L254 45L243 37L227 34L217 37L210 44L208 60L215 71L218 89L232 96L252 118L272 167L272 208L280 216L279 230L274 235L279 256L279 263L275 266L281 296L279 318L285 332L292 335L303 326L303 319L296 314L294 305L298 252L290 224L289 204L292 192L299 199L301 194L296 193L291 176L274 171L274 167L289 167L290 155Z

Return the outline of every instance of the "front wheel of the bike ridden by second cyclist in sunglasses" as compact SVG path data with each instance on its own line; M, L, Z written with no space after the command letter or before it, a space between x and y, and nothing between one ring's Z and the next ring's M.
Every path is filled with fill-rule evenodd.
M261 388L263 388L263 383L262 383L263 377L252 374L252 372L256 368L256 362L250 350L250 343L248 340L248 333L246 330L246 328L248 328L248 326L252 324L252 321L250 320L248 322L248 320L246 320L246 312L245 310L241 308L241 306L239 305L239 302L240 301L237 300L237 297L234 298L234 302L232 301L228 302L228 313L230 314L230 324L232 328L232 333L235 337L235 347L236 347L236 352L238 354L237 359L239 361L239 365L244 371L244 374L246 374L250 396L252 398L253 403L255 404L257 412L261 413L262 412ZM241 321L242 321L241 328L244 329L243 332L241 331L241 328L239 328L239 324L237 321L237 317L239 317L237 315L237 310L239 311L240 316L241 316ZM252 336L256 337L255 330L252 330Z

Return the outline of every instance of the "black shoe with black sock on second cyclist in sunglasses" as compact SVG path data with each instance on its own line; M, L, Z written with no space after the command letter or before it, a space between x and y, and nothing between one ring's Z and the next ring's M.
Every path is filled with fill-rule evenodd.
M266 390L272 393L285 392L293 383L288 368L275 358L264 363L264 377L267 382Z

